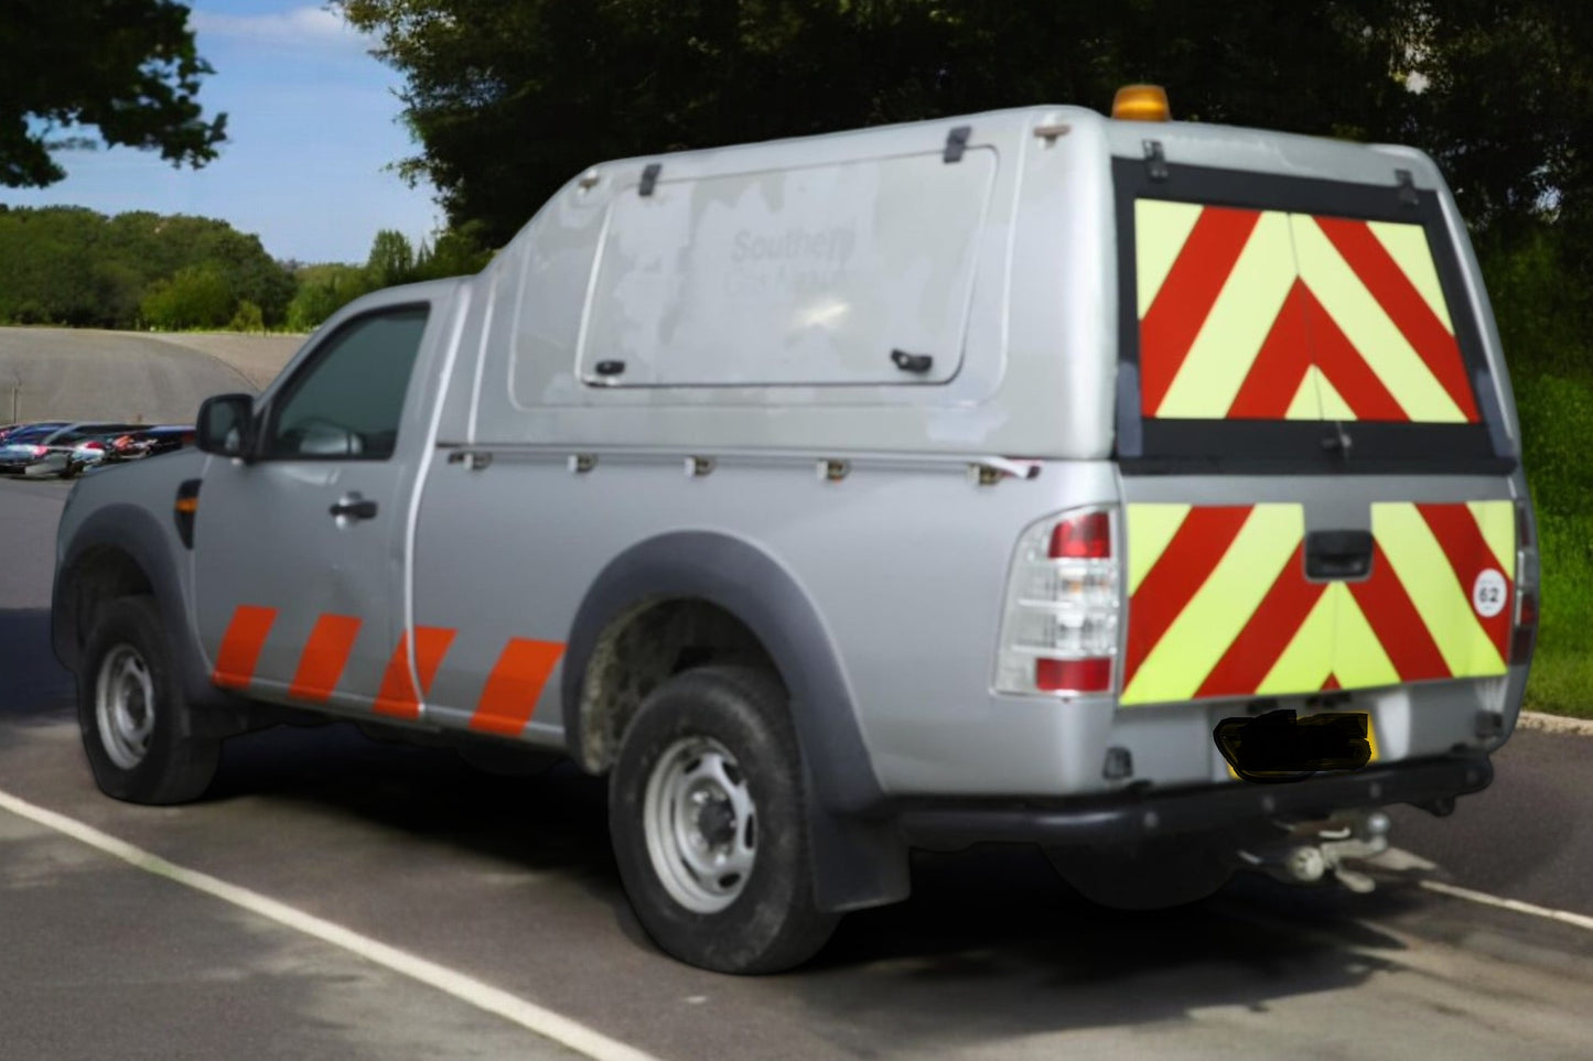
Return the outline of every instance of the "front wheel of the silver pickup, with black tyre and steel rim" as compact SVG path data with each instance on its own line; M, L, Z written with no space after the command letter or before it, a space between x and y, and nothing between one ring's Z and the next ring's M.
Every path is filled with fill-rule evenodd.
M202 795L215 777L221 742L194 736L191 723L155 601L107 604L94 618L78 669L78 728L100 792L155 805Z

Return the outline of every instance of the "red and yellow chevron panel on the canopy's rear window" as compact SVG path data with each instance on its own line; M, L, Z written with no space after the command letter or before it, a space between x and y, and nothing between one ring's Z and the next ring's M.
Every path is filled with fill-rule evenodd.
M1141 408L1475 424L1419 225L1139 199Z

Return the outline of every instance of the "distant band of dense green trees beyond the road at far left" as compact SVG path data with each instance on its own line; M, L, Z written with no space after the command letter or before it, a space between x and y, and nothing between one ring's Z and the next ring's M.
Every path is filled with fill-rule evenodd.
M282 323L293 276L256 236L226 221L148 212L107 218L80 207L0 210L0 323L131 328L148 319L140 307L158 284L198 266L220 274L234 304L253 303L264 327Z

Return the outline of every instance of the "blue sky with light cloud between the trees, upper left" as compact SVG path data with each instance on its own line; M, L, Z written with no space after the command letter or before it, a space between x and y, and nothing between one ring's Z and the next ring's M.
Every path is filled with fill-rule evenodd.
M315 0L188 0L199 54L215 67L199 89L228 140L204 169L156 151L64 151L67 178L0 188L10 206L84 206L221 218L260 236L279 260L363 263L378 229L419 244L443 225L429 185L392 169L419 153L398 121L403 81Z

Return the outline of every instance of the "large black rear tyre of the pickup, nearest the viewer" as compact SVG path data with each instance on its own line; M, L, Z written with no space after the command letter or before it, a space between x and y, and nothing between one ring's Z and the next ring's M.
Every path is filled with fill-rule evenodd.
M733 873L712 881L734 881L734 894L720 910L701 906L726 902L726 895L698 897L698 908L679 899L682 887L691 887L690 879L680 883L682 875L690 878L691 871L680 860L682 868L666 881L660 867L667 871L667 852L655 857L648 844L648 787L655 773L658 792L671 790L666 779L690 774L691 749L699 742L730 757L722 760L725 773L753 808L750 830L731 825L733 835L755 841L750 870L744 878ZM707 754L714 755L720 752ZM620 876L648 935L683 962L726 973L773 973L812 957L835 932L840 914L820 913L814 905L803 801L801 757L787 696L769 674L747 666L704 666L653 690L626 731L609 779L609 830ZM658 795L652 806L677 805ZM703 805L695 806L701 827ZM655 828L655 840L669 832Z

